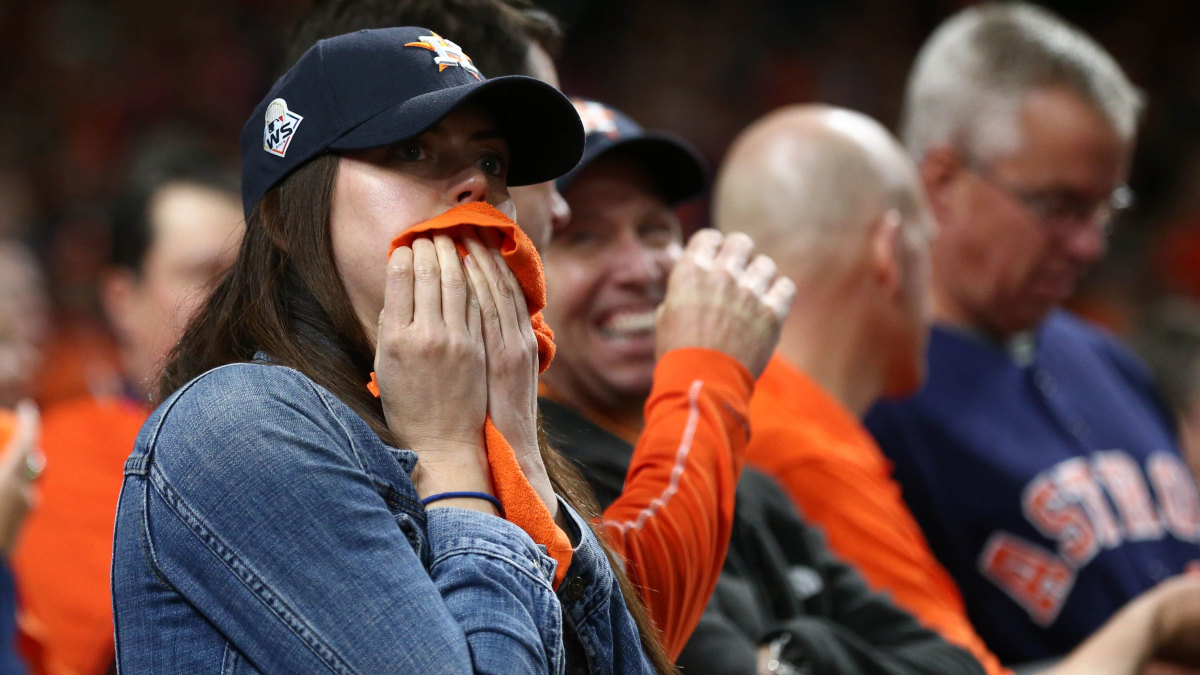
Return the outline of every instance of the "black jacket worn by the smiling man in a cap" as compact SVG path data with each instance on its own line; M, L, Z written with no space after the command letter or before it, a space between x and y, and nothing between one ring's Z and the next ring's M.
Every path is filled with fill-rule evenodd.
M634 448L553 401L540 401L551 443L575 460L601 507L620 494ZM966 651L923 628L826 548L768 476L738 483L725 568L678 664L685 674L752 674L758 646L787 634L802 673L982 674Z

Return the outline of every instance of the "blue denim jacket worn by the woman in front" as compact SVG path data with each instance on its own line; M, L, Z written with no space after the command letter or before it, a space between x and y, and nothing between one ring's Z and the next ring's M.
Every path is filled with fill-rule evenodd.
M211 370L142 428L113 545L122 673L643 673L578 514L554 561L515 525L426 512L416 455L300 372ZM564 637L564 628L566 635Z

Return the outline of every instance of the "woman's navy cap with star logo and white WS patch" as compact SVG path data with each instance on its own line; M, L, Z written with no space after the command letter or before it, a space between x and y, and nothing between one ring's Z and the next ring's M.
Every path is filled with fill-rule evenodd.
M508 142L509 185L552 180L578 161L578 114L553 86L522 76L487 79L457 44L428 29L360 30L305 52L242 127L247 217L317 155L412 138L467 101L486 110Z

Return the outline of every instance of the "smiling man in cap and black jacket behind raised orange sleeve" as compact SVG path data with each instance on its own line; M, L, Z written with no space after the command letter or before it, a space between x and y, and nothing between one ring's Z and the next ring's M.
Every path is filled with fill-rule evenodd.
M559 179L572 215L544 256L546 316L557 329L563 358L542 376L541 407L552 441L580 462L607 504L636 479L634 448L659 405L664 374L671 372L665 359L655 363L661 341L670 331L696 328L665 317L655 321L655 311L668 311L668 280L680 281L676 261L685 233L676 209L700 196L708 181L684 142L646 132L602 103L577 98L575 104L588 145L580 165ZM860 187L868 184L856 174L840 186L846 195L826 192L821 198L853 197L856 189L869 191ZM790 213L796 204L774 187L754 198ZM912 219L911 229L919 233L923 227ZM692 241L713 234L700 231ZM889 234L895 235L894 228ZM749 241L743 234L728 235L734 238ZM773 255L787 252L778 238L764 243ZM775 269L772 258L752 256L749 244L739 253L713 264L744 267L750 283ZM752 317L740 323L746 333L755 331ZM767 382L760 380L755 399ZM750 431L752 447L760 432L752 407ZM638 521L658 518L649 513ZM678 661L684 673L980 671L968 653L923 628L884 595L871 592L772 478L754 468L743 472L733 519L715 593Z

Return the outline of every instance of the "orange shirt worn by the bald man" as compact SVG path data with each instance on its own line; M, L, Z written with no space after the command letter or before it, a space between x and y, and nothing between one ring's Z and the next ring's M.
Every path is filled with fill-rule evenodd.
M750 420L746 459L784 485L834 552L926 627L970 650L989 674L1008 673L971 626L890 462L851 411L776 356L755 386Z

